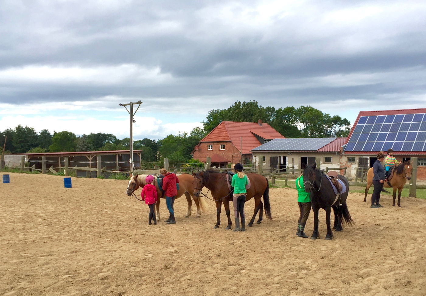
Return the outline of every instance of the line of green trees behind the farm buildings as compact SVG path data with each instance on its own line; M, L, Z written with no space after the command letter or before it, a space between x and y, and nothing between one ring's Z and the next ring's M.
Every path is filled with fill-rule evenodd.
M141 139L133 142L134 150L143 150L144 162L156 162L167 157L171 163L193 163L191 152L195 145L222 121L257 122L262 120L287 138L300 137L346 137L350 122L338 115L330 116L311 106L299 108L262 107L256 101L235 102L227 109L208 112L203 128L194 128L190 134L179 132L157 141ZM128 150L130 138L118 139L113 134L75 135L71 131L47 129L37 133L34 128L18 125L0 131L0 145L3 148L7 137L6 153L43 153L75 151Z

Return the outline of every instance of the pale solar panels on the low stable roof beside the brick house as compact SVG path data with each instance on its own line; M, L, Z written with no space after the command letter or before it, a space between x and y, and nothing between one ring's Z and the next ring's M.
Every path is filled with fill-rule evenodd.
M316 151L337 138L273 139L254 151Z

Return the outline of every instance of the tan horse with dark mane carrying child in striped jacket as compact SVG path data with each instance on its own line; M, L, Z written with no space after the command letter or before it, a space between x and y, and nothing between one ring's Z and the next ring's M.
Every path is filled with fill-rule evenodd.
M401 191L407 182L407 180L411 179L411 174L413 172L413 167L410 165L410 162L401 162L394 170L394 176L392 176L392 179L389 180L391 183L391 187L394 191L394 203L392 204L395 206L395 199L397 195L397 189L398 189L398 207L401 207L400 201L401 201ZM367 194L368 189L370 189L371 185L373 184L373 168L370 168L367 172L367 187L366 187L366 195L364 196L364 202L367 201ZM388 183L384 183L383 187L390 188ZM387 191L386 191L387 192Z

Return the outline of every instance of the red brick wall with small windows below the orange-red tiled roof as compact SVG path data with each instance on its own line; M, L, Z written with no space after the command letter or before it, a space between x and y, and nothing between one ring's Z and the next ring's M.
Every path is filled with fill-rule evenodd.
M207 150L207 145L213 145L213 150ZM220 145L225 145L225 150L220 150ZM194 151L193 159L206 162L206 158L213 154L221 155L232 163L241 159L240 151L231 142L202 142L198 150Z

